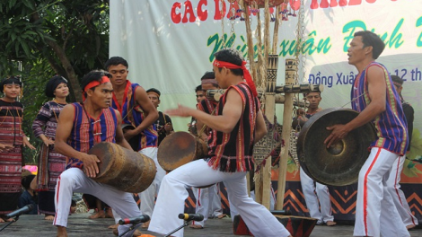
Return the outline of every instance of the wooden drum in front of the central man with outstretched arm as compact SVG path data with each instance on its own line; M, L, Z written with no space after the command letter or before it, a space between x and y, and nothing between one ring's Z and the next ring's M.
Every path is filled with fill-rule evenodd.
M175 132L166 136L158 146L157 160L164 171L172 171L207 154L207 144L198 137L188 132Z

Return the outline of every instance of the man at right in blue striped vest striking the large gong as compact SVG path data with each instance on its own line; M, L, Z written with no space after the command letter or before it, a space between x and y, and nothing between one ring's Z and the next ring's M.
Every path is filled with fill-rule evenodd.
M327 127L327 147L357 127L374 122L377 139L359 172L354 236L410 236L387 189L392 164L406 154L408 132L400 96L389 72L375 62L385 44L371 31L355 33L347 49L348 64L359 74L352 87L352 109L359 115L345 125Z

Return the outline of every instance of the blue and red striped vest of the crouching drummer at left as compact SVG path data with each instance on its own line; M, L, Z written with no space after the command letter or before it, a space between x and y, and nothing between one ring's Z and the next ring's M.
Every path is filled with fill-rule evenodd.
M88 153L93 145L101 142L116 143L116 128L118 118L112 108L103 109L99 118L92 118L84 110L81 103L73 103L75 107L74 127L67 138L67 144L76 151ZM75 157L70 157L66 169L76 167L82 169L84 163Z

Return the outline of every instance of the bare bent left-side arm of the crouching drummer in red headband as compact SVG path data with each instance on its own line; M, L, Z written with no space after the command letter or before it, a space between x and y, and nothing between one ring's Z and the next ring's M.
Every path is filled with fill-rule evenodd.
M74 157L84 162L84 171L88 177L95 177L99 172L97 162L100 162L98 157L93 154L84 154L76 151L72 146L67 145L67 138L70 136L72 127L74 127L75 108L73 105L66 105L60 111L58 117L56 142L54 148L59 154L67 157Z

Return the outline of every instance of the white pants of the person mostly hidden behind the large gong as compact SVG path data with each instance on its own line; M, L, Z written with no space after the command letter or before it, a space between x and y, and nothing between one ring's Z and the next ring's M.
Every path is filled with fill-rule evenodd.
M326 185L315 182L300 168L301 185L309 215L318 219L317 224L334 220L331 213L330 191ZM321 206L321 211L320 211Z

